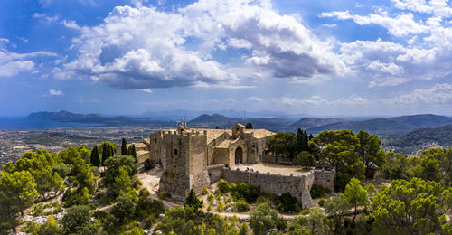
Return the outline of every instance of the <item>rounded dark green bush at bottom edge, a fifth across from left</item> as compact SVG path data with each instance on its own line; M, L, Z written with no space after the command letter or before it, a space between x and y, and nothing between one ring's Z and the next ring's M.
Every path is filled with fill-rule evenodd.
M61 219L64 234L98 234L100 224L98 221L91 220L89 211L89 206L86 205L75 205L69 208Z

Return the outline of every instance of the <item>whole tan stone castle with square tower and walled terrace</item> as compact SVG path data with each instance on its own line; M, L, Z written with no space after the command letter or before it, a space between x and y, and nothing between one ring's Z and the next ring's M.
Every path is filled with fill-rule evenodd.
M162 164L159 191L184 201L191 189L201 193L211 183L259 185L266 193L290 193L303 207L312 206L313 183L333 188L334 172L312 170L306 174L281 175L232 170L238 164L257 164L268 156L268 140L275 133L266 129L201 129L179 126L150 135L145 143L147 157ZM144 160L138 162L143 162Z

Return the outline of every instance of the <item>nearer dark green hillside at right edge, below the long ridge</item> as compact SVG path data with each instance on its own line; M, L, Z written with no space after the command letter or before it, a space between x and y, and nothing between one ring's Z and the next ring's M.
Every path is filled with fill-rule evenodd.
M421 128L393 141L391 146L423 146L438 143L439 146L452 146L452 124L442 127Z

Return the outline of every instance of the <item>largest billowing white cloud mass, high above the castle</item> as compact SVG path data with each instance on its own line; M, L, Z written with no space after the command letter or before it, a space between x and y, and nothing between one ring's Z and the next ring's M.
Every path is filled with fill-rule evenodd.
M243 68L284 79L346 71L331 43L296 17L273 11L269 1L200 0L172 13L117 6L103 24L80 32L71 46L80 56L65 71L118 89L236 86L247 78ZM236 67L213 59L229 48L250 56Z

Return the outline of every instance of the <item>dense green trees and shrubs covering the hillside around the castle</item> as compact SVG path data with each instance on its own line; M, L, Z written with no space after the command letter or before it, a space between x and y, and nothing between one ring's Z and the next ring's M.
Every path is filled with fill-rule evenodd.
M302 130L280 133L270 143L304 166L336 170L334 196L323 198L330 192L318 185L311 189L323 209L302 210L289 193L268 195L250 183L221 180L214 193L202 190L205 202L191 191L184 207L165 210L138 181L134 153L122 147L127 155L115 155L117 146L102 143L92 151L39 150L3 165L0 233L17 228L32 234L143 234L149 228L164 234L452 232L452 149L432 148L409 158L384 153L377 136L348 130L315 137ZM389 180L379 190L364 183L378 168ZM240 223L219 214L224 211L247 212L250 220ZM27 214L47 221L25 222Z

